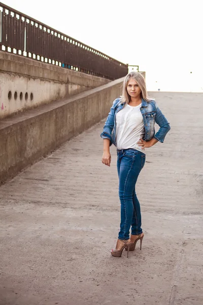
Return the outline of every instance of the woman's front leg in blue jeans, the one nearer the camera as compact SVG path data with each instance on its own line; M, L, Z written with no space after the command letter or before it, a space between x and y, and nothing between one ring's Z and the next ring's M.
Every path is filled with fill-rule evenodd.
M134 205L132 193L142 169L142 153L126 151L120 156L119 168L119 198L121 203L121 223L119 239L129 238L132 224ZM134 218L137 220L137 218Z

